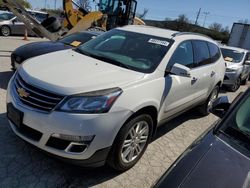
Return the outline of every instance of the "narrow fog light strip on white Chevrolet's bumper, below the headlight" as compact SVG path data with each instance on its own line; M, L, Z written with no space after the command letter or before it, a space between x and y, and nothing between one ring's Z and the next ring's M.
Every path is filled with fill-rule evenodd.
M66 135L66 134L52 134L51 137L60 138L62 140L68 140L71 142L91 142L95 135L90 136L74 136L74 135Z

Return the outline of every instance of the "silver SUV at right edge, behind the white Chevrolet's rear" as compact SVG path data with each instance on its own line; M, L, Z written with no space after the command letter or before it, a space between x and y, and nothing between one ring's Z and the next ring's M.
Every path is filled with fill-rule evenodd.
M223 85L234 92L249 79L250 52L229 46L221 47L221 51L227 66Z

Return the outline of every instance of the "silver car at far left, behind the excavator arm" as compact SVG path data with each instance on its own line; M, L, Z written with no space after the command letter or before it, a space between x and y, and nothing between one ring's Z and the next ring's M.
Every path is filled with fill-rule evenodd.
M46 13L37 13L37 11L28 11L33 15L39 22L46 19ZM9 35L23 35L25 33L25 24L21 22L13 13L11 12L0 12L0 34L2 36ZM35 34L28 30L28 35Z

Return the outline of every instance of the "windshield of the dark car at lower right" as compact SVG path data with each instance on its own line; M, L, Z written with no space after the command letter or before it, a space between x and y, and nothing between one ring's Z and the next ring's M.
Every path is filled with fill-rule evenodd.
M250 146L250 90L226 119L222 131Z

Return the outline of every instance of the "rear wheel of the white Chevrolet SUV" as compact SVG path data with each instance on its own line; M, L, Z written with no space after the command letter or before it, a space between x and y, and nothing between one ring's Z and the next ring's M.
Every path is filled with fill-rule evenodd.
M211 109L213 102L218 98L219 91L220 87L215 86L212 92L210 93L208 99L206 100L206 102L199 107L201 115L207 116L208 114L210 114L209 110Z

